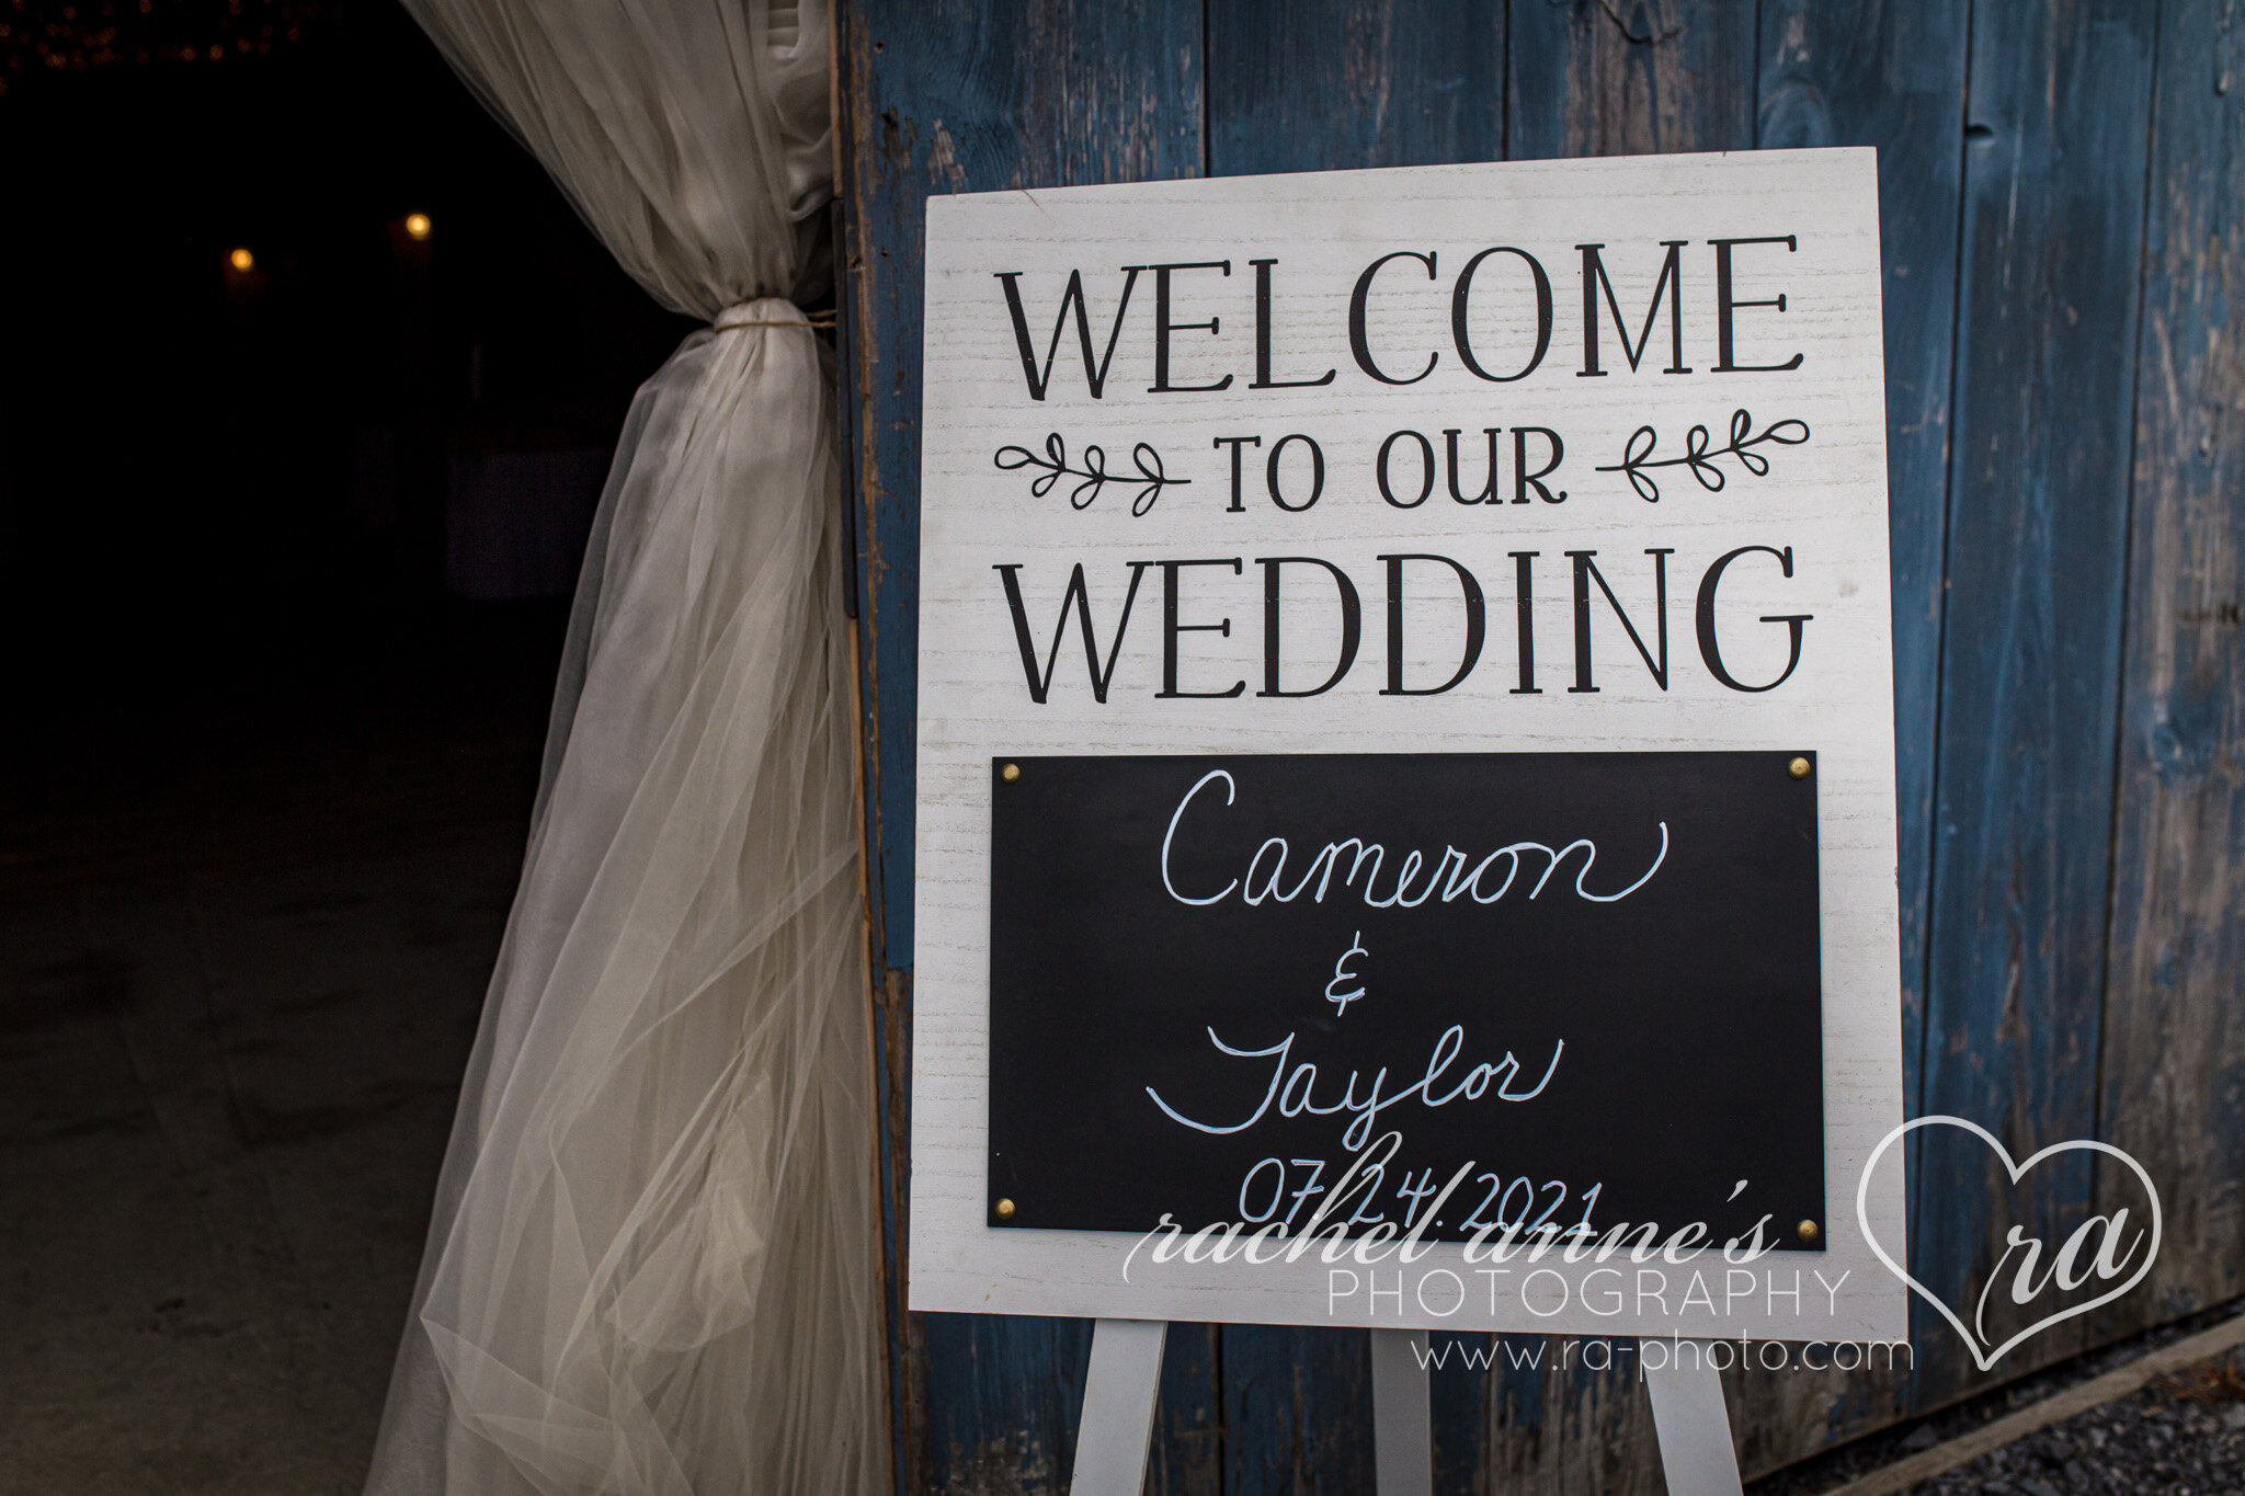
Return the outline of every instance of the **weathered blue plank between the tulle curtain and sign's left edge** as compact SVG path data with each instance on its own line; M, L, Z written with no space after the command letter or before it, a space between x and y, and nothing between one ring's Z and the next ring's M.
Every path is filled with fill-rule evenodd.
M920 484L920 249L929 193L1199 173L1201 7L1062 0L853 0L842 16L844 193L855 262L844 296L858 401L860 668L873 962L885 971L885 1074L909 1056L911 823ZM902 1267L909 1092L882 1128ZM1053 1492L1073 1453L1089 1357L1082 1321L925 1317L898 1337L900 1485ZM1190 1375L1174 1370L1174 1377ZM1203 1377L1212 1361L1203 1355ZM1194 1400L1181 1388L1170 1397ZM1197 1406L1212 1411L1212 1386ZM1190 1431L1185 1431L1190 1433ZM1206 1440L1203 1440L1206 1442ZM1190 1465L1179 1447L1174 1465ZM1183 1487L1181 1487L1183 1489Z

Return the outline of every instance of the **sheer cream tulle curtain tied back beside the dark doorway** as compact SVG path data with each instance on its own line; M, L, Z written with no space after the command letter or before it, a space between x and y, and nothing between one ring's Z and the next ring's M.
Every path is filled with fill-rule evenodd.
M665 305L368 1496L887 1485L826 13L406 0Z

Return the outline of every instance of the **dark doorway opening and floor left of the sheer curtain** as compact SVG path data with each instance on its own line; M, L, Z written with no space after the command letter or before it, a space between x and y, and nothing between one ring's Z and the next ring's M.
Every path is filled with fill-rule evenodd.
M0 0L0 1492L348 1496L691 323L391 0Z

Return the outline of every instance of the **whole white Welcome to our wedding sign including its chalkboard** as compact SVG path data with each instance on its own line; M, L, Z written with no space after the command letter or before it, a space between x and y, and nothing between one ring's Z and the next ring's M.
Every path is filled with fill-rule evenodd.
M911 1305L1899 1335L1872 155L936 197L925 359Z

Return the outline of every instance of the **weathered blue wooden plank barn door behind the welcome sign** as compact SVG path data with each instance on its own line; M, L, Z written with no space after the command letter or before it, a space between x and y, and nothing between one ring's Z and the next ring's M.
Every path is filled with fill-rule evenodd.
M1060 1492L1082 1321L916 1317L907 1269L920 224L932 193L1767 146L1879 148L1906 1106L2108 1137L2173 1200L2153 1290L1980 1375L1749 1373L1749 1474L2245 1292L2245 7L2229 0L846 0L858 507L902 1492ZM1989 1160L1926 1157L1958 1292ZM2045 1238L2088 1169L2027 1193ZM1625 1373L1459 1337L1437 1489L1657 1492ZM1367 1492L1360 1332L1179 1326L1152 1487Z

